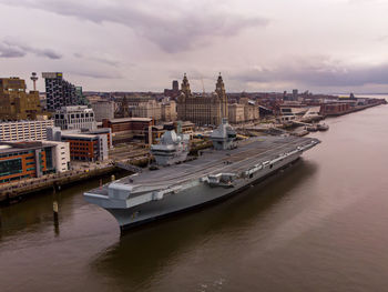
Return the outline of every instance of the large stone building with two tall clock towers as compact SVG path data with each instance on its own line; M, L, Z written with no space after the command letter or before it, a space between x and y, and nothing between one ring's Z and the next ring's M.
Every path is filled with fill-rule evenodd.
M221 74L211 94L193 94L186 74L182 81L182 93L177 98L177 119L192 121L198 125L218 125L227 118L227 97Z

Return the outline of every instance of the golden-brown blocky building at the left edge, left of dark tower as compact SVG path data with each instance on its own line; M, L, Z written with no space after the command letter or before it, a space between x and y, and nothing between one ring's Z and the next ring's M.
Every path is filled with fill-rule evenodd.
M24 80L0 79L0 120L34 120L41 112L39 92L27 92Z

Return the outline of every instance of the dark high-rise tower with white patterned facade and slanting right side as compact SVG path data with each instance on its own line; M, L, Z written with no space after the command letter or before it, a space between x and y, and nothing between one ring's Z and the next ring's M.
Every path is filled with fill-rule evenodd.
M79 104L75 85L65 81L61 72L44 72L47 107L55 111L62 107Z

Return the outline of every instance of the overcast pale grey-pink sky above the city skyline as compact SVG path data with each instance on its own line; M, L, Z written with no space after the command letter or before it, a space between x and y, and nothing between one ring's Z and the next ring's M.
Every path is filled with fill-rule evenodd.
M0 77L162 91L186 72L211 91L222 72L229 92L388 92L387 0L0 0Z

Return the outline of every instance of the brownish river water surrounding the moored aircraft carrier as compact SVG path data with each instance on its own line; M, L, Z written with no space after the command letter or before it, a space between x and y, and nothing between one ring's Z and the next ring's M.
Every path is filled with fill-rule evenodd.
M3 208L0 291L387 291L388 107L327 119L295 165L120 235L98 181Z

